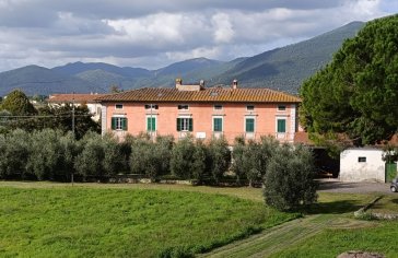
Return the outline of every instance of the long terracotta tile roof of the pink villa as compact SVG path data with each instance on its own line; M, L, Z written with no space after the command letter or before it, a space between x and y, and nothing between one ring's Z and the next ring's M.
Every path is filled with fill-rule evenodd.
M300 103L297 96L269 89L207 87L201 91L143 87L98 97L98 102L244 102L244 103Z

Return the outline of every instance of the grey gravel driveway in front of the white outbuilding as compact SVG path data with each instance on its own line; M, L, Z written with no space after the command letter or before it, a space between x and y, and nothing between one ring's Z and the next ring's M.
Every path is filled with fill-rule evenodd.
M389 190L390 184L384 183L349 183L340 181L336 178L330 179L319 179L319 190L318 191L329 191L329 192L352 192L352 194L366 194L366 192L383 192L387 195L397 195L398 192L391 192Z

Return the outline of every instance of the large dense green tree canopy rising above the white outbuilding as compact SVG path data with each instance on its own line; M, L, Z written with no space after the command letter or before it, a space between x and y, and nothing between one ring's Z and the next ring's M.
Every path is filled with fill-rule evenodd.
M301 122L312 139L389 140L398 129L398 15L371 21L347 39L300 95Z

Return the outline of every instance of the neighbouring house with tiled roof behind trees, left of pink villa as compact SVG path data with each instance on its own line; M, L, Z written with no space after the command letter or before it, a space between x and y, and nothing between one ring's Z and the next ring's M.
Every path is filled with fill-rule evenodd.
M86 105L90 113L93 115L94 121L98 121L101 117L101 104L95 102L95 98L106 96L106 94L54 94L49 95L47 99L48 105L65 106L67 104L73 104L75 107Z

